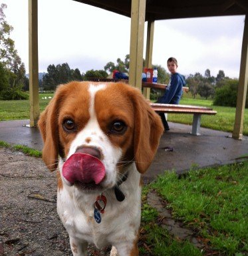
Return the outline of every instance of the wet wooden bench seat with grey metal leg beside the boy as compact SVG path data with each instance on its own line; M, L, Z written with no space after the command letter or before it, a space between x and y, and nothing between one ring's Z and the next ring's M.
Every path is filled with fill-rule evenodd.
M209 107L199 107L191 105L172 105L162 103L150 103L154 111L158 113L184 113L193 114L192 135L200 135L201 115L216 115L217 112Z

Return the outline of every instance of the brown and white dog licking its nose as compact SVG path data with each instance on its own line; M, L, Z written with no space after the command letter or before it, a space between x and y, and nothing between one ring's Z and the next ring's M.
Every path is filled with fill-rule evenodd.
M163 132L140 91L124 83L60 85L39 129L43 160L57 169L57 209L73 255L86 255L88 243L138 255L140 174Z

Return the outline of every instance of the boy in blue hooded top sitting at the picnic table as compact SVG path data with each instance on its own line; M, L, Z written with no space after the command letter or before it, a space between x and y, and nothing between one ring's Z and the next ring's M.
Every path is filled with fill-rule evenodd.
M179 104L179 101L183 94L183 87L186 85L186 81L184 80L184 77L180 75L180 73L177 73L176 70L178 68L178 61L174 57L170 57L167 61L167 67L172 73L172 76L170 78L170 82L168 86L166 87L166 92L162 97L156 101L156 103L164 103L164 104ZM166 131L170 130L170 127L166 121L166 117L164 113L158 113L162 119L162 122L164 124L164 129Z

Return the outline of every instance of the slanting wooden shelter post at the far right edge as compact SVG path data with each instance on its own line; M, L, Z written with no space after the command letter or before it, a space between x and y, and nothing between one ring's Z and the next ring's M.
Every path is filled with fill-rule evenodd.
M243 121L245 113L245 99L248 83L248 15L245 16L245 27L243 33L243 43L241 51L241 63L239 71L239 86L237 91L237 106L235 113L235 123L233 127L233 139L242 139Z

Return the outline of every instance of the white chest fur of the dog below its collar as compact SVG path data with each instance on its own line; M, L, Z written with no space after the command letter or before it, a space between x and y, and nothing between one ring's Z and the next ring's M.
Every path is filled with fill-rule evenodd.
M113 241L119 243L123 239L135 239L133 228L138 229L140 226L141 187L133 185L139 181L140 173L133 163L128 168L128 179L120 185L125 195L124 201L117 201L114 189L103 192L107 203L104 213L101 213L101 223L94 219L97 194L81 194L74 187L58 190L58 213L70 237L84 239L98 248L110 245Z

